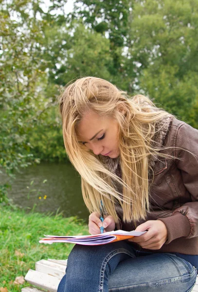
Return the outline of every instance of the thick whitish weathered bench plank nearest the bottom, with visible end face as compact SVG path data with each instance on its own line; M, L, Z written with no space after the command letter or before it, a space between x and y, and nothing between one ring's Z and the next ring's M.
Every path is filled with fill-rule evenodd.
M25 280L32 285L49 290L51 292L56 292L60 283L59 278L34 270L28 271L25 276Z

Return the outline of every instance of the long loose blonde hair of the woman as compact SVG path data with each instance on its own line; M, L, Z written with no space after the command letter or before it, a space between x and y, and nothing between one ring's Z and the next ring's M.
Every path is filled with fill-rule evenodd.
M148 161L152 155L164 157L152 146L156 123L170 114L156 108L145 96L129 98L125 91L96 77L80 78L67 85L59 98L59 108L66 152L81 176L83 199L90 213L100 213L102 199L106 213L115 222L117 204L123 208L125 221L145 219L149 211ZM78 142L76 128L87 110L117 120L122 179L108 169L100 155Z

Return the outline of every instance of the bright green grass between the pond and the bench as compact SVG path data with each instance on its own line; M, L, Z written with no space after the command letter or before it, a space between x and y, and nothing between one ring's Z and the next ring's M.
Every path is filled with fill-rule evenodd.
M25 276L29 269L35 269L40 259L66 259L73 244L39 243L43 234L85 235L87 225L76 218L63 218L38 213L26 214L22 210L0 206L0 287L8 292L18 292L30 286L27 282L16 285L17 276Z

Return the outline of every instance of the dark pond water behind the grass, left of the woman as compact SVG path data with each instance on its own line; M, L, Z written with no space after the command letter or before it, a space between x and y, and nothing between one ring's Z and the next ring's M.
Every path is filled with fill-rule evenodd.
M64 217L78 216L88 222L80 177L70 163L41 163L22 169L16 174L9 198L27 210L62 212Z

